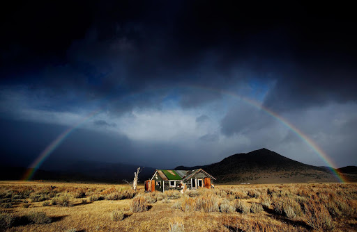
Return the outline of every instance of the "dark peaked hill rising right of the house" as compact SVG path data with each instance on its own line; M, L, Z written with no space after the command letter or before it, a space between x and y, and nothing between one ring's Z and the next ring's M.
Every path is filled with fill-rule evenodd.
M211 165L175 169L203 168L222 183L309 183L337 182L338 179L324 167L306 165L268 149L247 154L234 154Z

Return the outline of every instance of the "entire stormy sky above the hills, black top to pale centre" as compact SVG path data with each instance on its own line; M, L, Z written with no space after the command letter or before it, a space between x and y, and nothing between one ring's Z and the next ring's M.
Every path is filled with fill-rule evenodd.
M347 3L12 1L2 6L0 152L204 165L266 147L357 165L357 36ZM229 94L227 94L229 92Z

